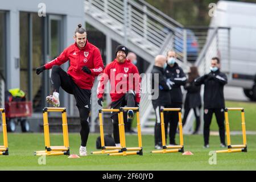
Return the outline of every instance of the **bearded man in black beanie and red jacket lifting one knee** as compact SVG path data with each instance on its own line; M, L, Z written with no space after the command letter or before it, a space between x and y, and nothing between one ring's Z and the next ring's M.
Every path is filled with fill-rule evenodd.
M118 46L115 50L115 59L104 69L98 84L98 104L102 106L104 101L105 84L110 81L110 97L112 100L111 108L119 109L120 107L138 107L141 101L141 77L137 67L126 59L128 49L125 46ZM131 122L134 117L133 110L127 111L127 122ZM112 113L113 135L115 145L120 146L118 115Z

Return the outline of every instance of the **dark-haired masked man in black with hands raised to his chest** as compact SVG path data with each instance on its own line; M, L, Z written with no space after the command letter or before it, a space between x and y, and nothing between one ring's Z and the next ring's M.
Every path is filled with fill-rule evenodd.
M224 85L228 78L220 72L220 59L213 57L211 61L210 73L196 78L195 85L204 84L204 148L209 148L210 122L213 113L216 116L220 134L220 146L225 144L225 125L224 125Z

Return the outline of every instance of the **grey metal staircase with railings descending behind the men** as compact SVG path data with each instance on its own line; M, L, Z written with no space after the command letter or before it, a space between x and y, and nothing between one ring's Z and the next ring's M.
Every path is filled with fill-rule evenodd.
M110 39L125 44L131 51L143 57L148 63L146 73L150 73L154 65L154 57L166 55L174 49L177 62L187 73L192 65L187 59L187 36L191 36L190 28L185 28L166 14L142 0L85 0L85 20L93 27L103 32ZM210 57L220 56L224 67L229 65L229 31L225 28L197 28L197 43L200 55L195 65L199 67L200 75L208 72ZM188 32L187 32L188 31ZM190 31L190 32L189 32ZM196 32L194 30L194 32ZM223 40L226 40L223 41ZM222 44L225 42L225 44ZM191 57L190 57L191 58ZM193 57L192 57L193 58ZM112 61L112 60L107 60ZM150 100L150 76L142 76L142 98L140 104L142 131L153 131L154 110ZM97 80L94 83L96 90ZM97 97L92 92L92 108L97 107ZM91 122L97 118L97 109L91 113ZM192 133L192 113L188 115L184 133ZM95 123L91 123L94 126ZM148 128L148 129L147 129Z

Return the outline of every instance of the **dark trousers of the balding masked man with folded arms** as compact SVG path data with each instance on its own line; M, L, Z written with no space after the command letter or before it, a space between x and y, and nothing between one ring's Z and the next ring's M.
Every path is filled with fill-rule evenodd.
M181 103L173 103L171 105L166 106L167 108L181 108ZM168 124L170 123L170 144L175 144L175 135L177 131L177 125L179 123L179 112L178 111L165 111L164 114L164 129L166 132L166 138L168 134Z

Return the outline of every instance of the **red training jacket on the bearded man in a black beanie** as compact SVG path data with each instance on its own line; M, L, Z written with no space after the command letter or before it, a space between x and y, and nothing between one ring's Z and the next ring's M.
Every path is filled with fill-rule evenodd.
M105 84L108 83L108 80L110 80L112 102L119 100L129 90L135 91L135 102L141 101L141 77L138 68L130 60L126 59L124 63L118 63L115 59L106 65L97 88L98 98L103 97Z

